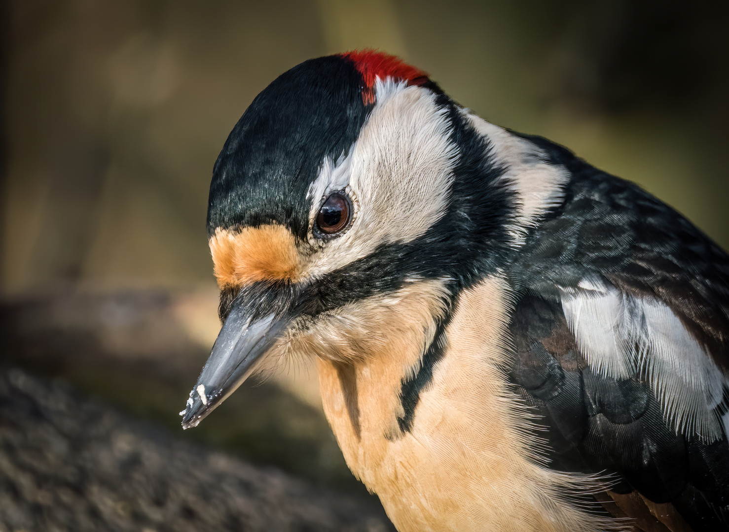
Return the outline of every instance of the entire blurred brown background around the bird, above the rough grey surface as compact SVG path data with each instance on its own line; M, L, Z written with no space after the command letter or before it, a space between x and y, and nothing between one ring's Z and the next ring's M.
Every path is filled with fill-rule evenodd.
M310 57L400 55L489 121L640 183L729 246L726 1L0 5L4 361L173 431L219 327L213 163L254 96ZM305 367L244 386L192 432L354 485Z

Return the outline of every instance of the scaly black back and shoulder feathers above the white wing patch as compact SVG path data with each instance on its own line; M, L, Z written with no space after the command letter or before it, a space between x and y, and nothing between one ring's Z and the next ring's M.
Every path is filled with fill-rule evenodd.
M729 255L634 183L549 140L523 136L572 172L566 201L523 250L517 267L527 284L550 293L593 274L633 295L658 298L729 373Z

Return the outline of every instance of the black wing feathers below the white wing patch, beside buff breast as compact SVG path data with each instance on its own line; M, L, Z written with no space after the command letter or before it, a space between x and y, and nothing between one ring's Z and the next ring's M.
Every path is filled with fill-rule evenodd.
M645 381L600 376L574 344L558 348L571 333L557 304L526 295L510 327L510 377L545 428L536 435L547 439L550 467L609 475L612 491L671 503L696 531L727 527L726 437L705 444L677 434Z

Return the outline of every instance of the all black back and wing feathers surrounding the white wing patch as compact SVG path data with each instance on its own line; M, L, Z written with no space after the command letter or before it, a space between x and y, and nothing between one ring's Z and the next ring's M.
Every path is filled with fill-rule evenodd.
M527 239L512 267L517 303L510 378L537 410L551 466L607 473L617 493L671 503L698 530L726 530L729 445L666 426L644 376L612 378L589 367L569 329L561 288L600 279L658 298L729 373L729 256L671 207L541 138L572 172L566 201ZM561 288L560 288L561 287ZM728 410L725 391L720 415Z

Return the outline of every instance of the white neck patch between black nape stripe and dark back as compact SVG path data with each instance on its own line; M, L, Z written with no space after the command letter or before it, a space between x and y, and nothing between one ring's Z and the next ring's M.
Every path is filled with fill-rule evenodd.
M504 167L502 179L509 183L518 198L518 206L509 228L515 245L523 243L526 231L539 222L547 210L564 200L564 185L569 171L548 162L539 146L464 111L475 130L491 143L491 156Z

